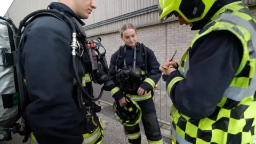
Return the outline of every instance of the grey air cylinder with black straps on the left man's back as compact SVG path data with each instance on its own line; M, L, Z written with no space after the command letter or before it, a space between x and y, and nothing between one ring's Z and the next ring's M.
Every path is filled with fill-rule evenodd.
M0 17L0 141L11 140L11 132L18 133L16 122L22 115L13 55L17 32L18 28L10 18Z

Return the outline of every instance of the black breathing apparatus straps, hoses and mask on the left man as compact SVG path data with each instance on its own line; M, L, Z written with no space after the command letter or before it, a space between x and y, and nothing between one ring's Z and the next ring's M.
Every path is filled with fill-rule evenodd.
M15 30L13 30L13 38L12 37L10 38L11 40L12 39L13 40L12 41L10 40L12 42L10 44L11 45L16 45L17 47L19 47L19 44L20 44L22 36L23 36L22 35L23 30L26 28L28 23L33 21L34 19L36 19L38 17L45 16L45 15L52 16L52 17L55 17L55 18L60 19L62 21L65 21L69 25L69 27L72 31L72 39L71 39L70 47L71 47L71 50L72 50L71 54L72 54L72 57L73 57L73 68L74 68L74 71L75 71L75 78L76 78L77 85L79 87L79 90L84 93L84 95L86 96L87 99L90 99L92 101L99 100L102 96L104 86L101 89L101 93L100 93L99 97L94 98L93 95L90 95L89 93L87 93L86 87L84 87L82 85L82 78L79 75L80 71L77 67L79 65L82 65L81 60L79 60L79 59L81 59L81 57L83 57L83 52L88 51L91 54L91 58L88 61L92 63L92 69L93 69L93 71L91 73L92 81L94 81L95 83L99 83L99 84L108 82L108 84L113 85L114 82L109 81L109 79L108 79L108 77L109 77L108 71L109 70L108 70L107 61L106 61L106 58L105 58L106 50L103 53L100 53L98 51L99 47L103 47L102 44L100 43L100 41L101 41L100 38L98 38L96 40L96 42L93 41L93 39L91 39L90 41L87 41L87 37L86 37L86 34L84 33L83 27L81 25L76 25L78 21L75 18L69 18L63 12L60 12L60 11L55 10L55 9L52 9L52 10L50 10L50 9L38 10L38 11L32 12L32 13L28 14L23 20L20 21L20 25L19 25L18 29L16 28ZM6 23L3 23L2 21L0 21L0 22L1 22L0 23L0 26L1 26L0 30L1 30L1 36L2 36L2 26L4 26L4 28L5 28L3 31L6 31L7 29L9 30L9 25L6 25ZM81 26L81 27L79 27L79 26ZM23 27L24 27L24 29L22 30ZM78 33L76 33L77 30L78 30ZM15 31L15 33L14 33L14 31ZM83 35L85 37L85 47L83 47L81 45L81 43L78 42L77 37L79 35ZM6 36L6 34L5 34L5 36ZM14 38L15 36L16 36L16 39ZM14 42L15 40L16 40L16 43ZM13 127L13 126L8 127L9 125L6 125L7 127L5 126L6 128L4 129L4 132L5 133L7 132L9 134L9 135L7 135L8 138L6 138L6 134L1 135L1 131L0 131L0 137L5 136L5 138L3 138L3 140L7 140L7 139L10 140L11 138L9 138L9 137L11 137L11 135L10 135L11 132L19 133L20 135L25 136L25 138L23 139L22 142L27 142L31 131L30 131L29 125L26 124L25 113L26 113L26 107L30 103L30 99L29 99L28 93L26 91L26 84L24 82L24 78L21 75L21 73L19 71L19 67L17 65L18 59L16 59L16 58L18 57L17 55L19 53L19 49L16 48L16 47L15 47L16 48L15 49L15 48L10 47L8 45L2 45L3 42L4 43L9 42L9 39L0 39L0 42L1 42L1 45L0 45L1 47L0 48L2 48L2 47L7 48L7 51L6 51L6 49L2 49L2 55L3 56L1 55L1 57L3 58L3 66L5 66L5 65L9 66L9 65L6 64L9 61L11 62L11 65L13 66L13 67L8 67L8 68L4 68L4 69L2 68L3 66L1 66L1 68L0 68L0 73L4 74L4 75L1 75L3 77L0 77L1 78L0 83L1 84L2 83L9 84L9 85L1 85L0 86L1 95L2 94L13 94L15 92L18 92L18 94L19 94L18 100L20 100L20 102L18 102L19 109L17 108L17 106L13 106L12 109L3 109L3 110L1 109L2 107L0 107L0 114L4 114L6 116L6 113L9 113L10 115L6 116L6 117L7 118L13 118L13 117L18 115L18 110L19 110L20 113L19 113L18 116L19 116L19 118L22 117L20 124L15 123L15 122L17 122L17 120L19 118L15 119L14 121L12 120L13 123L15 123L13 125L17 125L18 127ZM92 47L88 46L87 43L94 44L95 49L92 49ZM103 47L103 49L104 49L104 47ZM95 52L97 52L97 54ZM94 58L96 58L97 60L94 60ZM16 71L16 69L17 69L17 71ZM14 74L14 76L12 76L13 74ZM9 78L9 77L12 77L12 78ZM15 86L17 86L16 90L13 88L14 87L13 81L11 81L11 79L13 79L13 77L15 77L15 84L17 84L17 85L15 85ZM1 89L1 87L3 87L4 89L3 88ZM16 96L13 96L13 98L16 98ZM78 101L78 108L82 109L81 110L82 112L86 112L87 109L85 108L84 103L83 103L83 99L81 98L80 95L77 97L77 101ZM15 103L15 101L14 101L14 103ZM89 110L89 113L90 113L90 110ZM85 115L84 113L81 113L81 119L87 118L86 116L88 116L88 115ZM1 117L0 117L0 119L1 119Z

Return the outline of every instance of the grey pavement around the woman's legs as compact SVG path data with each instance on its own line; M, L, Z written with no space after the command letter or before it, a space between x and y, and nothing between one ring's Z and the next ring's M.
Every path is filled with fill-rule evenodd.
M98 94L100 92L97 90L100 90L101 85L93 85L93 86L94 86L95 97L98 97ZM162 91L155 91L153 99L155 101L155 107L156 107L158 119L161 119L162 121L170 122L170 107L171 107L170 98L166 96L165 92L162 90ZM102 144L129 143L127 141L127 138L125 137L123 125L117 121L115 114L113 112L113 106L110 105L114 102L114 99L111 97L110 93L103 92L101 101L105 101L105 103L98 101L99 102L98 104L101 105L102 107L101 113L98 115L101 116L103 120L107 121L108 123L107 130L104 131ZM109 104L106 104L106 102ZM159 123L159 124L163 126L162 123ZM166 125L164 125L163 127L166 127L166 128L164 130L162 130L161 128L162 134L166 136L166 134L164 133L166 133L165 131L167 131L167 136L170 135L168 133L170 132L170 129L168 130L169 127ZM141 138L142 138L141 143L146 144L148 142L147 142L147 138L141 122L140 122L140 128L141 128L140 131L141 131ZM20 137L19 134L14 134L13 139L11 141L0 142L0 144L21 144L22 139L23 137ZM164 138L164 142L171 143L171 140ZM29 142L25 144L29 144Z

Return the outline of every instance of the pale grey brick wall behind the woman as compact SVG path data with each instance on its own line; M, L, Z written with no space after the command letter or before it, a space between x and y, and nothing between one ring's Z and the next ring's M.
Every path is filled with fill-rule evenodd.
M256 9L252 9L251 12L256 17ZM121 27L122 26L120 26L120 28ZM180 61L183 53L187 50L196 33L198 33L198 30L191 31L189 26L180 26L178 21L173 21L138 28L138 42L145 44L153 50L159 63L164 64L166 58L172 57L175 50L178 52L174 59L175 61ZM122 39L120 38L119 33L111 33L96 37L101 37L102 39L102 44L107 50L106 57L109 65L111 54L117 51L120 45L123 45ZM162 84L158 89L161 87L162 90L165 90L165 83L161 83Z

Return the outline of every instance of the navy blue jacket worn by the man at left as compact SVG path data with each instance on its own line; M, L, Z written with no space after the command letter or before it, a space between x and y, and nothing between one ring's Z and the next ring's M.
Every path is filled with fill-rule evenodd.
M85 25L67 5L51 3L50 7ZM72 98L74 70L70 42L68 24L51 16L36 18L23 32L19 66L31 99L26 118L40 144L83 142L85 124L79 122Z

